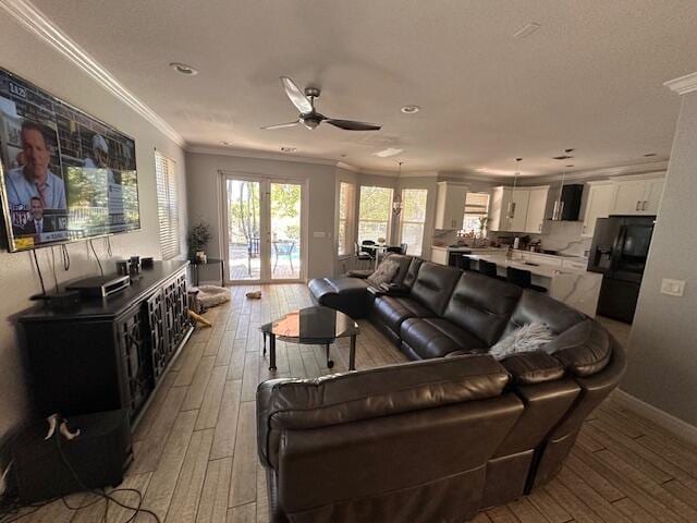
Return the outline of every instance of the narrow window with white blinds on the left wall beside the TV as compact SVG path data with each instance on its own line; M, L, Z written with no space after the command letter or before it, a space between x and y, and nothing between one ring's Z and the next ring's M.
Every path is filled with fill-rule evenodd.
M174 161L155 151L155 175L157 179L157 214L160 220L160 248L162 259L171 259L180 254Z

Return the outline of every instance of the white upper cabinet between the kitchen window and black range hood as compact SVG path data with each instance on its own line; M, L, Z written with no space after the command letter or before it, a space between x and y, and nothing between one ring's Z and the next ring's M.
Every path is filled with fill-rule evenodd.
M494 187L489 205L491 231L530 232L542 230L549 185L538 187ZM511 210L511 216L506 212Z

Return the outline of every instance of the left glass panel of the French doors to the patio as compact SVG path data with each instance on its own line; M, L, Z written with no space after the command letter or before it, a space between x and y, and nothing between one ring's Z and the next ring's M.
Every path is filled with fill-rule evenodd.
M261 182L225 178L228 279L261 280Z

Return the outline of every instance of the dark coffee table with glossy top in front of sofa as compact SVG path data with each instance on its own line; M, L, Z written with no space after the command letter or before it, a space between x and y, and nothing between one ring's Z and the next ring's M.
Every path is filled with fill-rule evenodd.
M264 354L266 354L266 339L269 338L269 370L276 370L277 338L293 343L325 345L329 368L334 366L334 362L329 357L329 346L338 338L351 338L348 370L356 369L356 336L360 333L360 327L344 313L319 306L301 308L274 321L264 324L259 330L264 336Z

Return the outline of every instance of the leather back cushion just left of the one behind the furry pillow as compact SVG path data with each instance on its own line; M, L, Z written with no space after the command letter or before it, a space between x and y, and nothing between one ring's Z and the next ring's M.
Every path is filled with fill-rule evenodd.
M522 292L512 283L465 271L443 317L491 346L501 337Z

